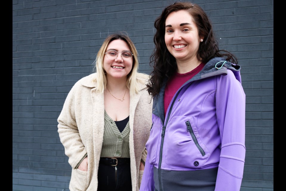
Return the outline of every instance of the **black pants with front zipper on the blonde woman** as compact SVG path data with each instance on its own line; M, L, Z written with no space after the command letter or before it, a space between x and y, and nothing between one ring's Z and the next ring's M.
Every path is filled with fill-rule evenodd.
M130 164L99 164L98 191L132 191Z

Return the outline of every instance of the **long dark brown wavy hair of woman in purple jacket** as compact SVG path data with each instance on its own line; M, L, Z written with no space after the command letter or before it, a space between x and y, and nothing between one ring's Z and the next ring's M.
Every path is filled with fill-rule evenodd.
M203 42L200 42L197 52L199 61L207 63L214 57L224 57L227 61L237 64L237 58L233 54L226 50L218 49L211 21L203 9L197 4L175 2L162 11L154 24L157 29L154 36L155 50L150 58L150 64L154 64L149 83L147 84L148 92L153 97L159 93L164 78L166 76L170 78L177 70L176 60L165 44L165 21L170 13L179 10L186 10L192 16L198 27L199 36L203 38Z

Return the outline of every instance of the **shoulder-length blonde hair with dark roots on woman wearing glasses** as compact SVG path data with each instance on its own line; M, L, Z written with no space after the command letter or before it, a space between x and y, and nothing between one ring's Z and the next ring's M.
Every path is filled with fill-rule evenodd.
M127 75L127 82L126 82L126 85L130 91L130 96L133 96L134 94L139 92L138 83L140 81L142 82L142 75L137 72L138 67L139 67L139 61L138 61L138 53L137 53L137 50L135 48L135 45L133 44L131 39L124 34L111 34L111 35L109 35L105 39L105 41L103 42L102 46L100 47L100 49L97 53L97 57L96 57L96 61L95 61L96 62L95 68L96 68L96 72L97 72L97 79L96 79L97 80L97 91L99 91L100 93L103 93L105 88L106 88L107 78L106 78L105 70L103 67L104 53L106 52L108 44L111 41L117 40L117 39L125 41L128 44L131 52L133 53L132 69L131 69L130 73ZM141 80L137 79L137 77L139 77L139 76L140 76Z

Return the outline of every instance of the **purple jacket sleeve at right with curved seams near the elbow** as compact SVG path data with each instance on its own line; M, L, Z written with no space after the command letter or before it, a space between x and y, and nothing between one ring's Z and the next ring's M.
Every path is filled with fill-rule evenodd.
M216 82L221 153L215 190L239 191L245 159L245 93L231 70Z

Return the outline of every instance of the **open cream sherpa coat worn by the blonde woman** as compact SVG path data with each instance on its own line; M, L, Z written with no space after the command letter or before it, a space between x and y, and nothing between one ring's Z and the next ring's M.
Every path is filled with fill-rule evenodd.
M96 91L96 73L80 79L69 92L58 118L58 133L72 167L71 191L97 190L97 171L104 132L104 94ZM151 102L151 103L150 103ZM145 144L152 124L152 101L144 83L130 98L130 167L132 190L139 190L143 171L140 161L146 159ZM75 167L88 155L88 171Z

